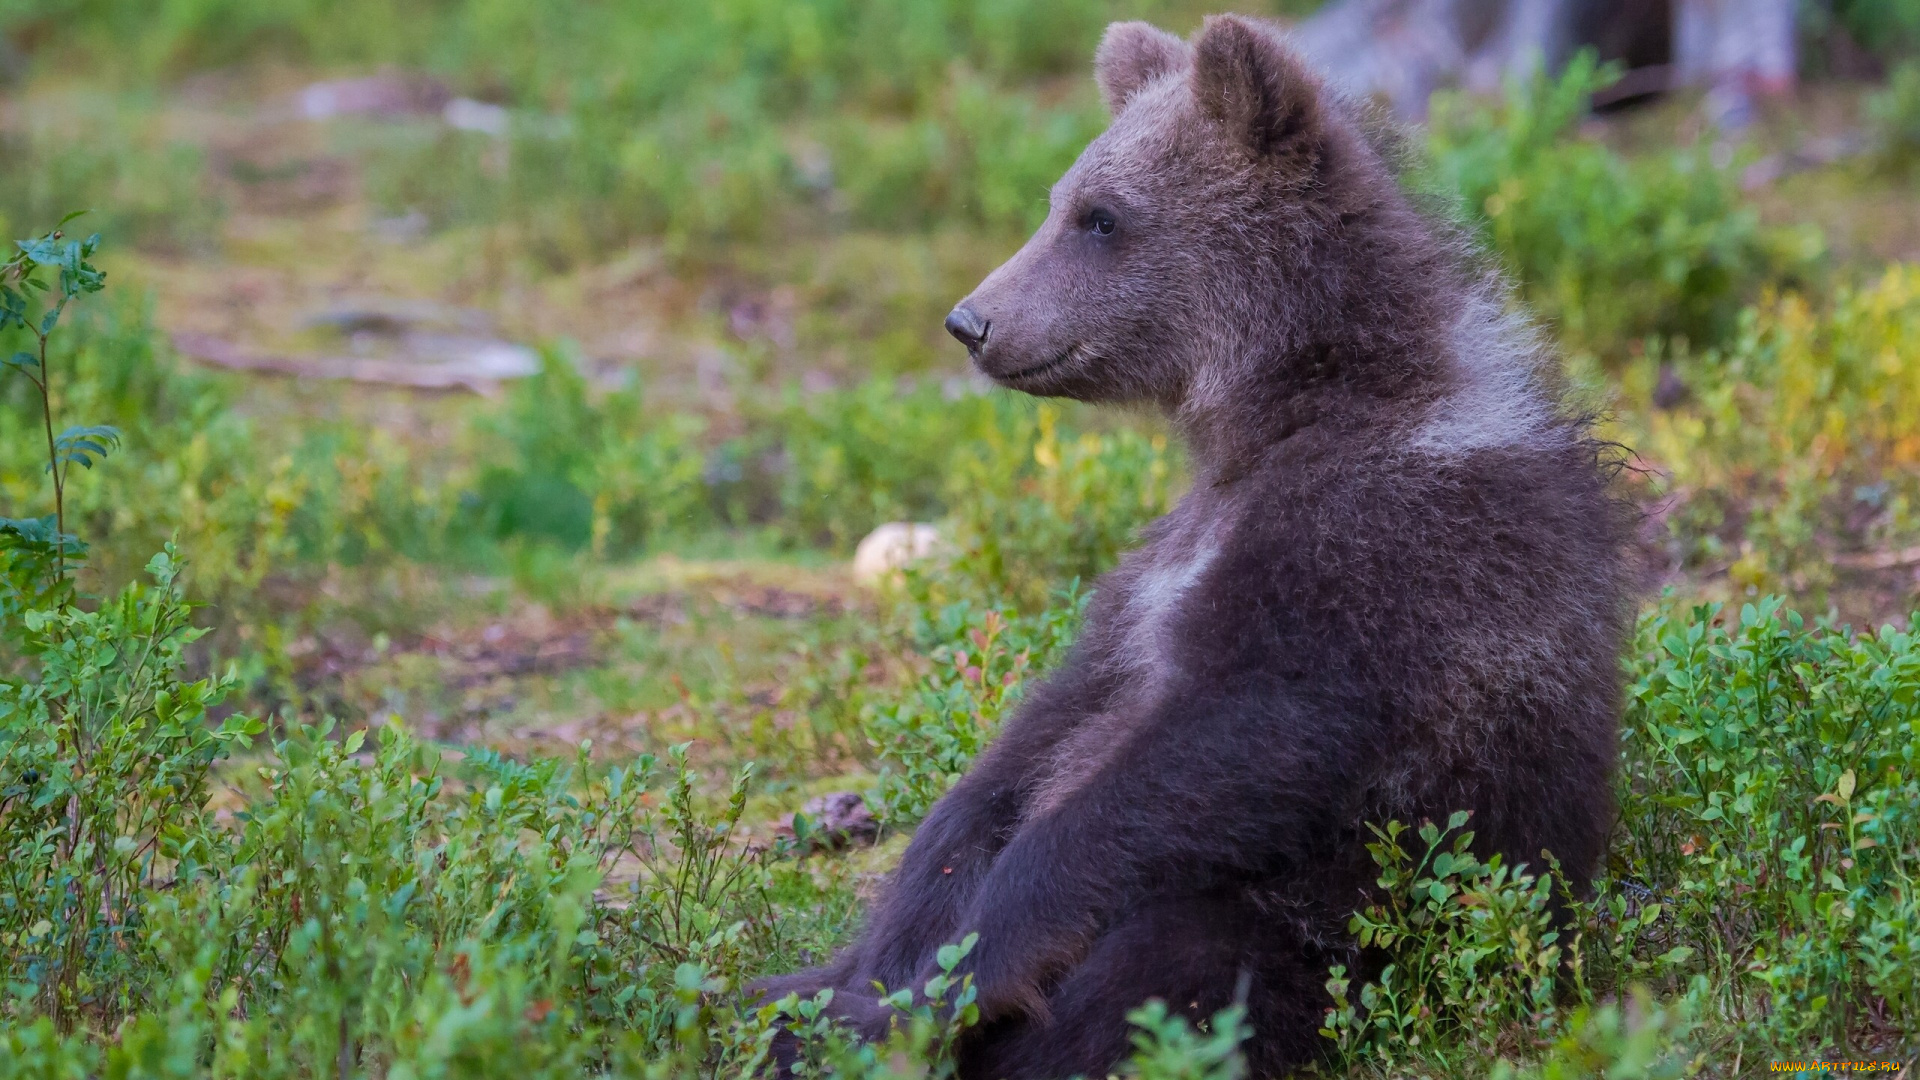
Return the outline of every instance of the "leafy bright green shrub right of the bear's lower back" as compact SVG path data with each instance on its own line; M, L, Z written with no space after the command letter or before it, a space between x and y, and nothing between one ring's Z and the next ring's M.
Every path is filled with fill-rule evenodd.
M1642 625L1615 878L1759 1043L1920 1030L1920 642L1778 600Z

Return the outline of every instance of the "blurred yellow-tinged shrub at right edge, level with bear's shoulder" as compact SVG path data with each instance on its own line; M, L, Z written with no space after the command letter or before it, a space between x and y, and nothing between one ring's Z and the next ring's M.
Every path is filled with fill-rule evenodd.
M1828 304L1768 296L1705 354L1649 348L1622 373L1619 438L1665 473L1682 565L1820 600L1836 563L1920 523L1920 271L1887 267ZM1667 369L1684 400L1653 402Z

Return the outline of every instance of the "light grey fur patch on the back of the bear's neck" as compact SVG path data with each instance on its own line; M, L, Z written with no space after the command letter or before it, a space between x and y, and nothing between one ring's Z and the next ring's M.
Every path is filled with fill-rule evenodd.
M1413 450L1469 454L1526 446L1553 430L1553 407L1540 386L1540 334L1498 298L1475 296L1448 332L1452 390L1413 430Z

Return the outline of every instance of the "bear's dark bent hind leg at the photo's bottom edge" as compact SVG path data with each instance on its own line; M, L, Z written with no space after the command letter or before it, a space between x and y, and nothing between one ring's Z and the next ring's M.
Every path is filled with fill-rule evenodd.
M1281 1076L1319 1055L1336 957L1250 897L1162 896L1121 917L1046 995L1050 1017L1008 1017L960 1051L966 1080L1108 1076L1133 1051L1127 1013L1150 997L1198 1024L1233 1005L1246 980L1242 1043L1252 1076Z

